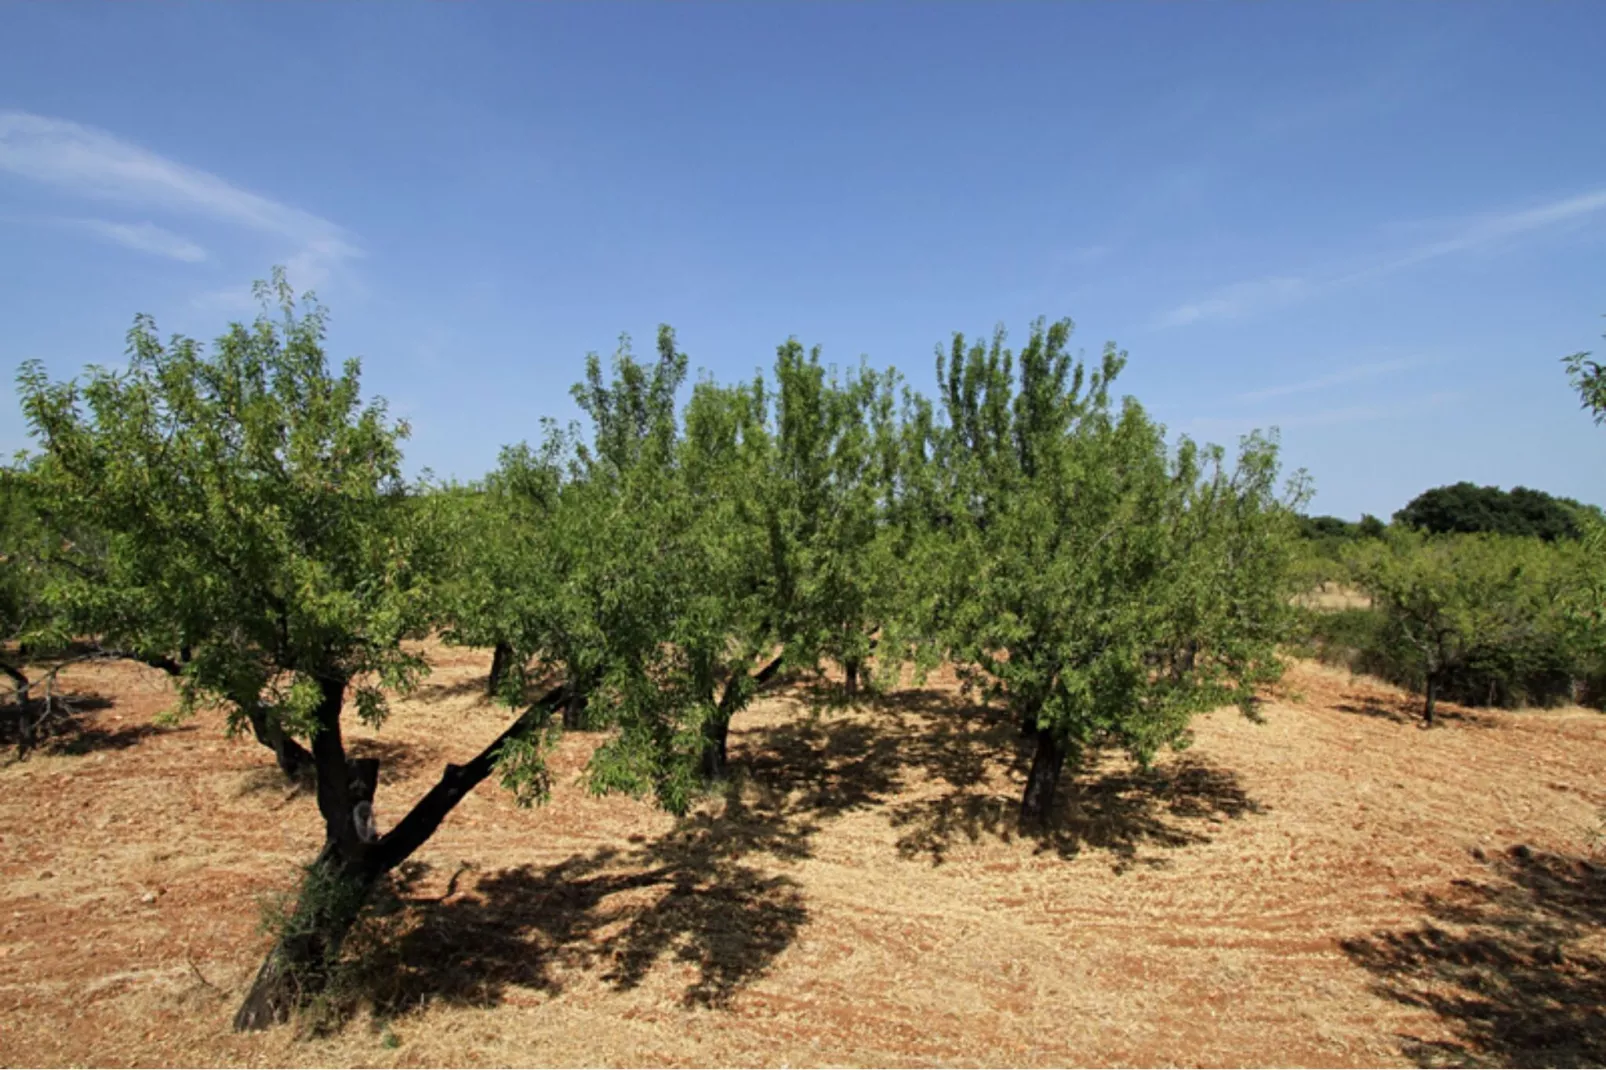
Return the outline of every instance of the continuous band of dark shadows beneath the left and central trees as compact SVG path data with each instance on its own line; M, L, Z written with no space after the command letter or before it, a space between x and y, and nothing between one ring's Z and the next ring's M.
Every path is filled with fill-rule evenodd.
M687 970L686 1004L729 1006L808 924L801 885L774 871L809 858L827 823L885 810L906 829L901 853L940 863L959 837L1017 835L1018 795L1004 798L997 781L1023 784L1028 762L1013 718L941 691L739 725L723 800L657 840L485 872L427 900L427 866L405 868L353 943L355 988L384 1020L429 1003L496 1006L520 988L559 993L578 972L630 990ZM901 802L911 787L936 790ZM1033 837L1065 856L1110 848L1119 868L1145 845L1209 839L1182 819L1254 811L1230 773L1193 760L1097 776Z

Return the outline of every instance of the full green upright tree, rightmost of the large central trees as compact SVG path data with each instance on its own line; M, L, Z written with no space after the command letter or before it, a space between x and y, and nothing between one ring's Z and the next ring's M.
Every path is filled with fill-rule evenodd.
M1124 353L1089 370L1070 331L1033 325L1018 373L1002 331L938 352L933 620L1034 739L1028 823L1094 749L1147 762L1201 710L1249 712L1290 619L1275 443L1246 439L1233 471L1217 448L1168 450L1137 402L1111 402Z

